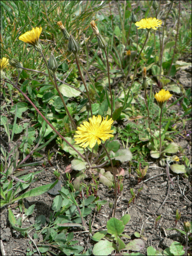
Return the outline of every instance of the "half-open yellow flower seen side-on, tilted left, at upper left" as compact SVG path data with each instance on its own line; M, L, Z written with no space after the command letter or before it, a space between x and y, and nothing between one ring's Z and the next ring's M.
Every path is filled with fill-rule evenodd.
M42 27L33 27L32 30L27 31L25 34L20 35L19 40L32 45L35 50L41 52L41 45L39 43L39 36L41 35Z

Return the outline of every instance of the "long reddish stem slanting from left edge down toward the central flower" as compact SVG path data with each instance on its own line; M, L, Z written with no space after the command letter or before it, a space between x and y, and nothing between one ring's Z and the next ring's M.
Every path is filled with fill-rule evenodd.
M8 82L6 80L4 80L4 81ZM72 146L71 143L69 143L59 132L57 132L57 130L53 127L53 125L49 123L49 121L44 117L43 114L41 114L41 112L34 105L34 103L27 97L27 95L25 93L23 93L23 91L20 90L14 83L12 83L12 85L15 87L15 89L17 89L27 99L27 101L29 101L29 103L34 107L34 109L38 112L38 114L45 120L45 122L53 129L53 131L56 132L57 135L59 135L60 138L63 139L73 150L75 150L75 152L78 153L80 155L80 157L82 157L84 160L86 160L86 158L78 150L76 150L76 148L74 148L74 146Z

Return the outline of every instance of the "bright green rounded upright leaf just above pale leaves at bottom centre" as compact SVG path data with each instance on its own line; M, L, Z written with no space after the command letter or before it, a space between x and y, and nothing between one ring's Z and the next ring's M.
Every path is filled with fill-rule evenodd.
M117 240L117 236L123 233L125 226L123 225L123 221L120 221L116 218L110 218L107 222L107 230L109 234L112 234L114 240Z

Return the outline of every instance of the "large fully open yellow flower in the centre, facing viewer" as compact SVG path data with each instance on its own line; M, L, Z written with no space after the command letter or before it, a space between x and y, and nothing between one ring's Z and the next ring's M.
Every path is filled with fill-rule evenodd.
M78 135L75 135L74 137L78 138L75 139L76 144L81 143L79 146L86 148L87 146L90 146L90 148L93 148L96 144L96 142L101 144L101 140L107 140L109 138L112 138L114 135L110 134L113 132L111 130L111 125L113 124L112 118L108 120L108 116L106 119L103 120L101 116L98 117L93 116L92 118L89 118L89 122L83 122L83 124L80 124L80 127L78 127L78 131L76 133ZM101 140L100 140L101 139Z

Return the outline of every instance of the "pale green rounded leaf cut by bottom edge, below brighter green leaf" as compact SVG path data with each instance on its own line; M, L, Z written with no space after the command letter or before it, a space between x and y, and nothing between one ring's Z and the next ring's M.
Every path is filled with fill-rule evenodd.
M105 256L112 253L113 250L116 250L117 247L113 242L108 240L100 240L97 244L94 245L93 255L96 256Z

